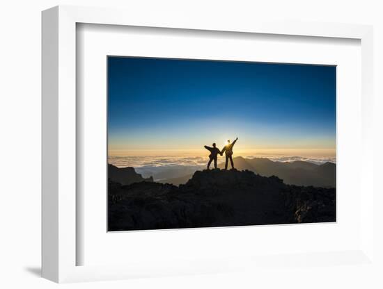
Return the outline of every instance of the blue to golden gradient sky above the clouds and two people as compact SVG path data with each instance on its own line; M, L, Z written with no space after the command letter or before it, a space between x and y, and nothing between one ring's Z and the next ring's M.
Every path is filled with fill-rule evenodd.
M109 57L108 97L109 155L335 154L334 66Z

